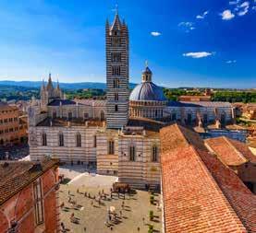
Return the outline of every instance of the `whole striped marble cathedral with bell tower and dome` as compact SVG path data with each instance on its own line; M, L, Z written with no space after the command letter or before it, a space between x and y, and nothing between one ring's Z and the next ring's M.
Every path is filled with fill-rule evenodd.
M49 76L40 102L29 110L32 160L57 157L96 168L98 174L116 175L133 186L159 187L162 127L172 122L222 127L233 121L229 103L165 99L148 65L130 92L128 46L128 26L116 13L114 22L105 25L106 100L65 99Z

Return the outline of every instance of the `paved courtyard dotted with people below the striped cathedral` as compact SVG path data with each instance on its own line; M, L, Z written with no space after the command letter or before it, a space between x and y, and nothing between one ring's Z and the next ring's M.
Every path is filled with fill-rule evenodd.
M66 229L62 232L144 233L150 225L152 232L162 232L160 194L132 190L111 195L116 177L97 175L81 166L60 168L59 173L65 177L59 189L60 221Z

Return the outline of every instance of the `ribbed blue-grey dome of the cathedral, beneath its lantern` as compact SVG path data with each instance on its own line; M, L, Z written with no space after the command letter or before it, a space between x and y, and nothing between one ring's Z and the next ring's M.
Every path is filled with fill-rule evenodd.
M137 85L129 96L131 101L165 101L162 87L158 87L152 82L142 82Z

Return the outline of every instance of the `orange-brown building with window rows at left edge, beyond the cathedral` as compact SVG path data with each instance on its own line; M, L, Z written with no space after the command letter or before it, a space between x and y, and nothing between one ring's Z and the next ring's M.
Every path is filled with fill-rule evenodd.
M18 107L0 101L0 146L26 142L27 131L27 119L19 115Z

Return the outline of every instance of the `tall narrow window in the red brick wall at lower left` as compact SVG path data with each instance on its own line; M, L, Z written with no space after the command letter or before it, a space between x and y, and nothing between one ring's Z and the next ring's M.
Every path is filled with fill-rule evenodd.
M36 225L43 224L43 196L42 196L42 187L41 180L34 182L33 184L34 192L34 208L35 208L35 221Z

